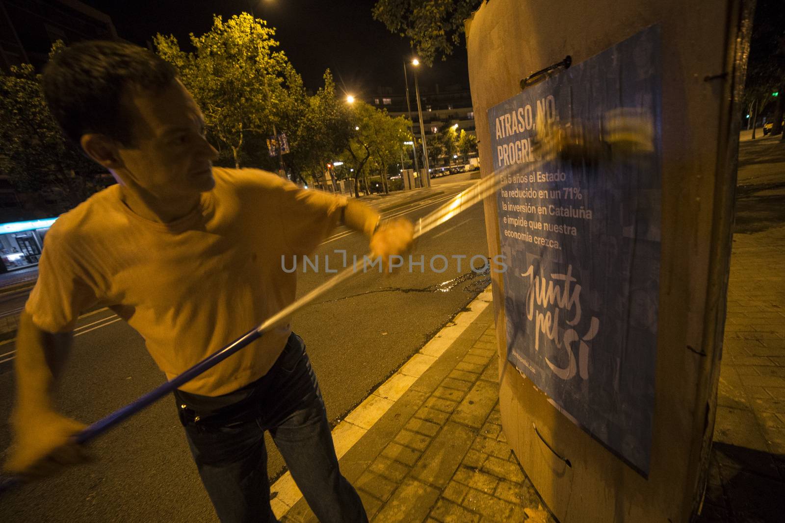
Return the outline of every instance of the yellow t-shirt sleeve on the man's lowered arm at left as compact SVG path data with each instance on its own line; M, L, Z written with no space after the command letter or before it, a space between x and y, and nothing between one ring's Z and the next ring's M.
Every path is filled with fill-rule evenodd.
M97 292L89 277L71 255L57 222L46 233L38 262L38 281L24 310L33 323L46 332L71 332L82 311L97 303Z

